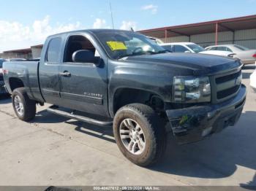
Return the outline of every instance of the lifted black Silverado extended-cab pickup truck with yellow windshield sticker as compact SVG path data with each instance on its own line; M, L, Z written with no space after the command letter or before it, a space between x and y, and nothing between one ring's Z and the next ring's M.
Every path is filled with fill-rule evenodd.
M178 144L234 125L246 87L233 58L171 53L132 31L91 29L49 36L40 60L4 63L4 82L20 120L36 105L94 125L113 125L118 148L148 166ZM171 132L171 133L167 133Z

